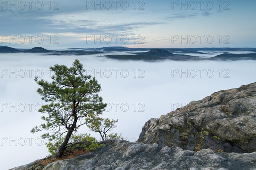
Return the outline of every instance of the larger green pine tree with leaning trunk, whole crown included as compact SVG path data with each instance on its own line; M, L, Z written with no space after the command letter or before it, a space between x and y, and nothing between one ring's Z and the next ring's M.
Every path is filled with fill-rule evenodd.
M52 82L35 77L35 82L41 86L37 89L38 94L48 102L39 112L48 113L48 116L42 116L46 123L34 127L31 132L50 130L50 133L42 135L43 139L47 138L49 141L58 141L66 135L55 155L61 157L72 133L102 114L107 104L98 95L101 86L94 77L84 75L85 70L78 59L70 68L66 65L54 65L50 70L54 73Z

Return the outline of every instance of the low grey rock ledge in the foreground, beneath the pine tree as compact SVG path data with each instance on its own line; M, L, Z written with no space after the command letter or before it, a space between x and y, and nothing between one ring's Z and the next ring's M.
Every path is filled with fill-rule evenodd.
M253 170L256 167L256 152L216 153L207 149L194 152L115 140L105 144L96 151L49 163L43 170Z

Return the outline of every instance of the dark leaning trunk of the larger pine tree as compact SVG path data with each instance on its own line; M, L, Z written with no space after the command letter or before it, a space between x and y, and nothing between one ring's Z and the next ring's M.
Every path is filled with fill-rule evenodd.
M76 128L76 122L77 122L78 118L77 118L76 111L75 111L75 102L73 102L72 110L73 110L72 112L73 112L73 116L74 116L74 122L73 122L72 126L70 127L70 129L68 130L64 142L59 147L58 153L54 156L56 158L61 157L63 155L64 151L66 150L67 143L68 143L73 131Z

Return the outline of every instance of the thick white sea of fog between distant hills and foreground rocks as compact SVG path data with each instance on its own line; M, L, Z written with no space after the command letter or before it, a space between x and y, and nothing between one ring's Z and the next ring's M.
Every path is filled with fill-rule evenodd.
M1 54L0 169L42 159L49 153L41 133L30 133L42 123L38 109L44 102L36 93L34 77L50 80L49 66L71 66L79 59L98 79L108 107L102 117L119 119L115 133L134 142L150 118L159 118L193 100L222 89L256 81L256 61L119 61L105 57ZM81 127L79 133L91 133ZM98 134L91 133L98 140Z

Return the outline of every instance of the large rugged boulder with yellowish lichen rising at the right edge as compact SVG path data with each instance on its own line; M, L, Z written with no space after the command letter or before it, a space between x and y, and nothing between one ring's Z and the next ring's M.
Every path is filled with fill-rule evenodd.
M150 119L137 142L184 150L256 151L256 83L218 91Z

